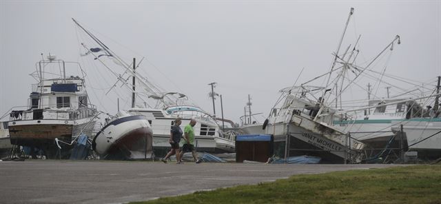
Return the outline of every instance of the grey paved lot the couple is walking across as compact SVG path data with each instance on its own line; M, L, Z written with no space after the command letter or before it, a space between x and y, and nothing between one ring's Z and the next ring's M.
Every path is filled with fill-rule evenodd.
M294 174L391 166L0 161L0 203L127 203Z

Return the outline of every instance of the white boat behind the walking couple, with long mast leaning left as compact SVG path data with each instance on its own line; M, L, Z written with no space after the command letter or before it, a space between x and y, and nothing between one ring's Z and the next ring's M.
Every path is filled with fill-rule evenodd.
M85 52L93 55L94 59L99 59L105 68L110 72L115 73L118 81L122 83L124 88L128 88L132 92L132 105L125 109L127 113L132 116L144 116L150 124L153 132L153 148L156 156L165 154L170 149L168 139L170 138L170 128L176 118L181 118L182 125L187 125L191 119L196 120L195 145L198 151L205 152L234 152L234 136L231 134L224 134L220 130L218 123L214 117L210 116L193 103L188 103L188 97L179 92L167 92L154 85L152 81L147 80L140 72L136 72L138 65L135 59L132 65L129 65L112 50L109 49L103 41L97 39L88 30L85 30L76 20L72 19L74 23L93 41L94 46L99 48L89 48L86 43L81 43L85 48ZM103 58L112 59L116 68L123 70L123 74L116 74L116 68L112 69L114 65L107 65ZM142 60L141 60L142 61ZM132 84L127 83L127 79L132 76ZM136 90L139 89L139 90ZM140 91L141 90L141 91ZM125 90L127 91L127 90ZM141 101L138 103L138 101ZM99 141L96 140L96 147L99 146Z

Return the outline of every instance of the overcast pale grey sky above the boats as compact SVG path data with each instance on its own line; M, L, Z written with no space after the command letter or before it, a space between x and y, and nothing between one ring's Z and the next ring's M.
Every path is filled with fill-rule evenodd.
M127 61L146 57L149 79L207 112L207 84L216 82L226 118L238 122L248 94L253 112L266 116L302 68L299 82L329 70L351 7L344 47L361 34L362 57L370 59L399 34L389 74L423 82L441 75L441 1L0 0L0 114L27 104L40 53L84 62L74 17ZM90 76L106 72L82 65ZM94 88L91 102L114 114L116 99L96 99L92 92L103 90Z

